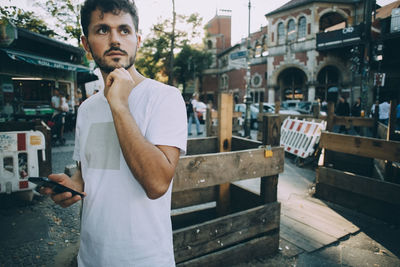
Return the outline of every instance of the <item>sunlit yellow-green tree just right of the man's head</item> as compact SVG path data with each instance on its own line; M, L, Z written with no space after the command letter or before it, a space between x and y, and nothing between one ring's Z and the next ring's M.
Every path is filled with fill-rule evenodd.
M190 16L176 14L175 30L172 29L174 23L171 19L156 23L138 52L135 66L146 76L159 78L158 80L171 84L173 78L169 74L174 71L174 64L171 64L171 59L174 58L173 52L182 49L184 45L191 43L190 40L200 36L201 22L202 18L195 13Z

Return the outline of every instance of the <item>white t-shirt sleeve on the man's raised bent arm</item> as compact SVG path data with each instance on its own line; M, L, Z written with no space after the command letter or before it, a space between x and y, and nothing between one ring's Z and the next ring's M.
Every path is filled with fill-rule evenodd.
M182 95L174 87L165 87L154 101L145 137L154 145L174 146L186 153L187 117Z

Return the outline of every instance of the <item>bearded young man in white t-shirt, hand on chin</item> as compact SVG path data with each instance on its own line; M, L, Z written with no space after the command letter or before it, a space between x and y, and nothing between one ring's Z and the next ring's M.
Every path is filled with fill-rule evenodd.
M78 171L71 179L49 176L85 194L78 265L175 266L171 181L186 150L185 103L176 88L136 71L140 36L132 1L86 0L81 23L82 43L105 88L79 108ZM52 199L68 207L80 197Z

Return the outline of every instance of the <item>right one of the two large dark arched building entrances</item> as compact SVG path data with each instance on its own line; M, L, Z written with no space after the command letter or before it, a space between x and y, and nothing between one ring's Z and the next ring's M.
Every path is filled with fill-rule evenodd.
M340 72L336 67L326 66L321 69L317 76L318 85L315 97L326 101L328 89L331 87L339 87L340 80Z

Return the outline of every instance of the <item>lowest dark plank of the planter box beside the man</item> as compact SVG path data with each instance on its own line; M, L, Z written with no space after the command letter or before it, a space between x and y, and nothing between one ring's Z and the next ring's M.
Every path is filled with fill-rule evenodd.
M233 266L250 259L273 255L278 252L279 232L272 231L265 236L204 255L202 257L178 263L177 266L220 267Z

